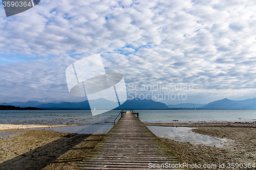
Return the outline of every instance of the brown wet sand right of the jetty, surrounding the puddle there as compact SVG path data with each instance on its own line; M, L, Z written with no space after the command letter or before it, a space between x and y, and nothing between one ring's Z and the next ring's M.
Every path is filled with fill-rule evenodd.
M220 164L225 168L207 169L255 169L255 168L228 168L228 163L255 163L256 167L256 128L246 127L197 127L194 132L218 138L233 140L223 147L206 146L190 142L180 142L160 138L167 147L184 163L189 164ZM195 168L189 168L195 169Z

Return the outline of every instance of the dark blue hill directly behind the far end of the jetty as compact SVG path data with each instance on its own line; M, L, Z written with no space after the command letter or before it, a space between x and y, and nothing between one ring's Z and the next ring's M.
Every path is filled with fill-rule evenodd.
M133 99L125 101L121 106L116 109L169 109L168 106L161 102L155 102L153 100L140 100Z

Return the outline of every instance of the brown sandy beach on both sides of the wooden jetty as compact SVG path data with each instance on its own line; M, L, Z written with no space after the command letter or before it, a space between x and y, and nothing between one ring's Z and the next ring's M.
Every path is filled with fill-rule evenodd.
M183 163L219 166L223 163L227 165L227 163L256 162L255 124L157 124L157 126L193 127L193 131L199 134L233 140L232 143L225 143L223 147L214 147L160 138ZM0 125L2 133L16 130L17 127L40 128L40 125ZM15 132L9 137L0 139L0 169L75 169L103 137L104 134L72 134L52 130Z

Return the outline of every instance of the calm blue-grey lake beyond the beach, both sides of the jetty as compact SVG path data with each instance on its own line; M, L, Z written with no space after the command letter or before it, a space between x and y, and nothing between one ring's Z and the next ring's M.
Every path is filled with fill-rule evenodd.
M113 124L120 110L3 110L2 124ZM143 123L256 122L256 110L135 110ZM173 120L178 120L173 121Z

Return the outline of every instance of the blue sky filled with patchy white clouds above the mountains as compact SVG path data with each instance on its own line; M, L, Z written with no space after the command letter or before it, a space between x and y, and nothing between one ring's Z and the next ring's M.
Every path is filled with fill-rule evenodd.
M253 0L41 0L10 17L0 6L0 103L84 101L65 70L94 54L123 75L128 99L256 98Z

